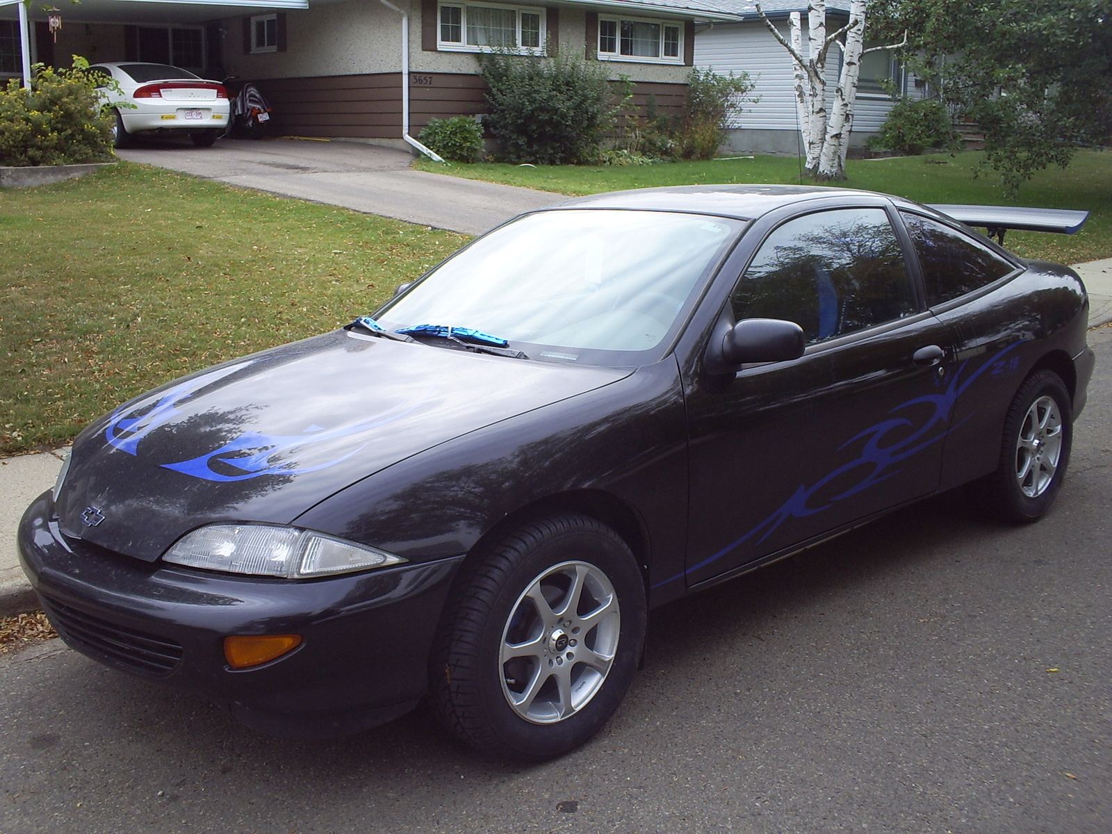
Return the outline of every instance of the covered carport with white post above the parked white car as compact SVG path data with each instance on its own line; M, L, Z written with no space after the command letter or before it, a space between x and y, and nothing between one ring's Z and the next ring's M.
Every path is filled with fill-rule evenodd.
M32 64L68 67L75 54L90 63L171 63L219 80L225 42L239 38L221 21L307 8L308 0L67 0L57 7L0 0L0 80L20 77L26 87ZM61 26L51 28L51 17Z

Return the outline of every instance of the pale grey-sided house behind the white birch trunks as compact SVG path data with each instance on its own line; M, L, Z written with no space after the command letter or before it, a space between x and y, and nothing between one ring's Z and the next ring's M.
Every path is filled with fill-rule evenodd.
M708 21L695 33L695 64L713 68L717 72L749 73L755 86L755 105L746 105L737 113L727 132L724 151L737 153L785 153L800 156L800 128L796 118L793 63L787 51L768 31L756 11L753 0L691 0L705 3L708 9L733 12L742 20ZM803 42L807 38L806 0L764 0L761 3L773 24L788 37L788 16L801 13ZM826 31L834 32L850 19L847 0L827 0ZM865 46L877 46L867 39ZM841 51L831 50L826 62L826 91L833 101L842 70ZM894 82L896 90L913 98L925 95L922 80L903 70L895 56L887 50L871 52L862 59L857 97L854 102L851 146L862 146L884 123L892 109L892 97L885 82Z

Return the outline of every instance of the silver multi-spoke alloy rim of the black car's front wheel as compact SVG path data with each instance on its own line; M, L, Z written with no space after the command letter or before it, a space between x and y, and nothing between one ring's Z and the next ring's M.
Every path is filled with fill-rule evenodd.
M520 717L555 724L598 693L617 654L622 614L609 578L564 562L529 583L502 632L502 692Z

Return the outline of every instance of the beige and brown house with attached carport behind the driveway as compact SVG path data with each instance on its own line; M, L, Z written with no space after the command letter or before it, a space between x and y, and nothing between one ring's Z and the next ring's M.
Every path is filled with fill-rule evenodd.
M82 0L63 16L53 42L32 10L37 60L77 53L236 76L259 86L280 133L403 148L433 117L485 110L484 52L582 50L635 83L635 105L652 96L678 108L696 28L737 19L688 0Z

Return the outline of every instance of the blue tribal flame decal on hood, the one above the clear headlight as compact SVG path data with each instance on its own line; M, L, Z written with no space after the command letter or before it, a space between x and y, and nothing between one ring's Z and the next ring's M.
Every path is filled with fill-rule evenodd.
M346 455L316 466L298 467L290 461L284 460L271 463L271 458L289 449L326 443L340 437L349 437L401 419L419 408L433 394L435 387L436 379L433 380L419 397L415 397L385 411L380 411L374 417L368 417L347 426L324 429L314 424L299 435L264 435L259 431L246 431L235 440L226 443L220 448L207 455L190 458L189 460L181 460L176 464L162 464L162 466L193 478L217 481L247 480L248 478L260 478L264 475L302 475L305 473L326 469L329 466L335 466L347 460L367 444L361 444ZM254 451L254 454L241 456L244 451ZM239 469L242 474L226 475L219 473L212 468L214 464Z

